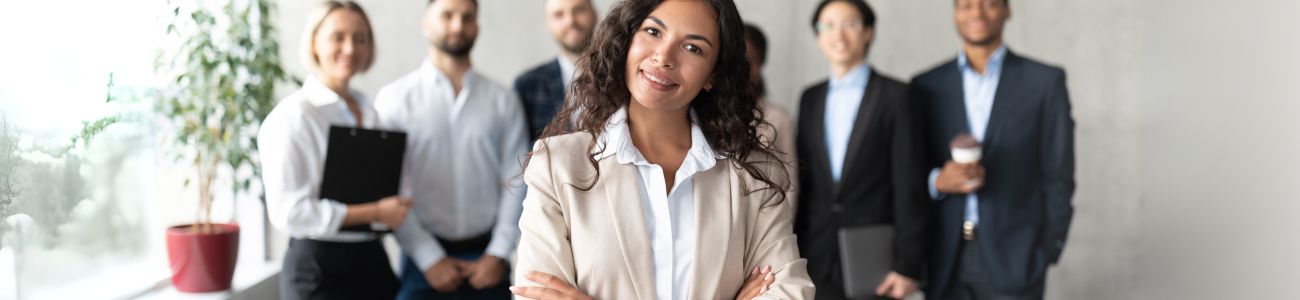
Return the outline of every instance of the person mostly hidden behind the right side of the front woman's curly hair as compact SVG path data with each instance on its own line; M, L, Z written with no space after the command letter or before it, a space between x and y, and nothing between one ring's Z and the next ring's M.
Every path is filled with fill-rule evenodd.
M758 108L763 110L763 119L770 125L759 125L758 134L763 143L771 143L772 149L780 152L781 161L785 162L785 171L794 177L798 174L798 162L794 155L794 123L790 113L780 105L767 100L767 82L763 81L763 64L767 62L767 36L753 23L745 25L745 60L749 60L749 83L754 87L754 96L758 97ZM790 208L798 208L798 181L790 181L790 188L785 190L785 199L790 201Z

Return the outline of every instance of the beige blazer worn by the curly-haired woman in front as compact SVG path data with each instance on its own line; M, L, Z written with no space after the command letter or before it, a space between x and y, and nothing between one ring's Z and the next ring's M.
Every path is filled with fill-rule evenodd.
M590 140L590 134L577 132L538 142L538 149L542 143L546 149L524 171L528 196L519 219L523 235L515 284L540 286L524 279L532 270L555 275L592 299L653 300L654 262L636 166L604 157L593 186ZM775 168L781 166L770 169ZM688 297L734 299L754 266L771 265L776 281L757 299L812 299L789 201L777 204L775 190L746 195L745 187L764 183L736 170L729 160L719 160L693 179L698 232ZM592 188L580 190L585 187Z

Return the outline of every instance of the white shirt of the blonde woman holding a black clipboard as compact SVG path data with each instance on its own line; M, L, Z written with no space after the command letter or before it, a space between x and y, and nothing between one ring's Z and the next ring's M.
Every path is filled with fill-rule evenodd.
M376 125L374 108L356 91L348 91L361 110L361 127ZM316 77L270 110L257 132L261 178L266 191L270 225L298 239L364 242L369 232L342 231L347 205L320 199L325 175L329 127L356 127L356 116L338 94Z

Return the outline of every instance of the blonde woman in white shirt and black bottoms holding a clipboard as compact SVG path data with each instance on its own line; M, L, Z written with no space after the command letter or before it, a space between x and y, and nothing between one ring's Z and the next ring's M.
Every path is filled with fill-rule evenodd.
M402 226L411 200L346 205L321 199L330 126L372 129L369 99L348 88L374 62L370 21L352 1L325 1L307 18L303 61L312 75L276 105L257 132L270 223L292 239L280 275L282 299L391 299L398 279L374 232L339 231L381 222Z

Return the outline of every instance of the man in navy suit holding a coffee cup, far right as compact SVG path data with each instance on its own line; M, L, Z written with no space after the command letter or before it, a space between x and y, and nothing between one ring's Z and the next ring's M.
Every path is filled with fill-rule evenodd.
M1043 299L1074 208L1074 121L1065 70L1006 49L1006 0L957 0L957 60L911 81L933 168L935 248L927 296ZM953 161L958 134L982 158Z

